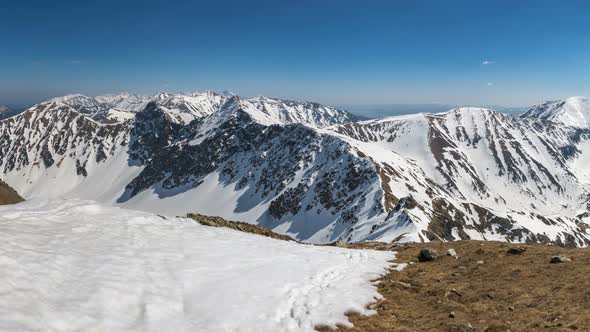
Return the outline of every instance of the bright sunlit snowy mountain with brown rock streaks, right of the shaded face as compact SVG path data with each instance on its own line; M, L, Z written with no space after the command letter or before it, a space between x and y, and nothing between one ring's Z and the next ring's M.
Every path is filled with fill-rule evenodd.
M588 132L480 108L330 129L415 160L444 188L432 200L429 229L445 239L590 243L579 225L587 181L573 167L588 153Z

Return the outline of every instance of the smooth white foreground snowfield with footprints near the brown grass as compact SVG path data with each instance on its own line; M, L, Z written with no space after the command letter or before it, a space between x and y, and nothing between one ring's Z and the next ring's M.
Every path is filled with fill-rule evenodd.
M300 331L368 313L391 252L88 201L0 207L0 330Z

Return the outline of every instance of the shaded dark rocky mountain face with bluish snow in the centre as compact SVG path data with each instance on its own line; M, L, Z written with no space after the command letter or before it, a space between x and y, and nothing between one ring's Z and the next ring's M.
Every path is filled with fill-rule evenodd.
M402 213L392 213L400 202L385 199L390 190L381 185L378 168L351 145L301 124L269 126L251 112L233 97L182 128L172 144L152 155L118 202L256 222L312 242L370 238L387 220L399 226L390 237L412 233ZM396 181L407 195L401 184L418 186L411 171L420 176L419 169L398 161L389 167L405 175Z

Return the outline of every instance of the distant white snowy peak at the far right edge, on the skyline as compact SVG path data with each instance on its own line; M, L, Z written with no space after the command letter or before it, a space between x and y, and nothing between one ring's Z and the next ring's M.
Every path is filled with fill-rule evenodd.
M547 120L570 127L590 128L590 100L571 97L531 107L521 117Z

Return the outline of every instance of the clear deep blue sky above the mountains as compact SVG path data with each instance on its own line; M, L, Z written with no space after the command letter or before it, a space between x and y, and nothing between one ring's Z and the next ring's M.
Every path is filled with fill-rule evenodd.
M328 104L590 95L588 1L0 0L0 104L230 90Z

